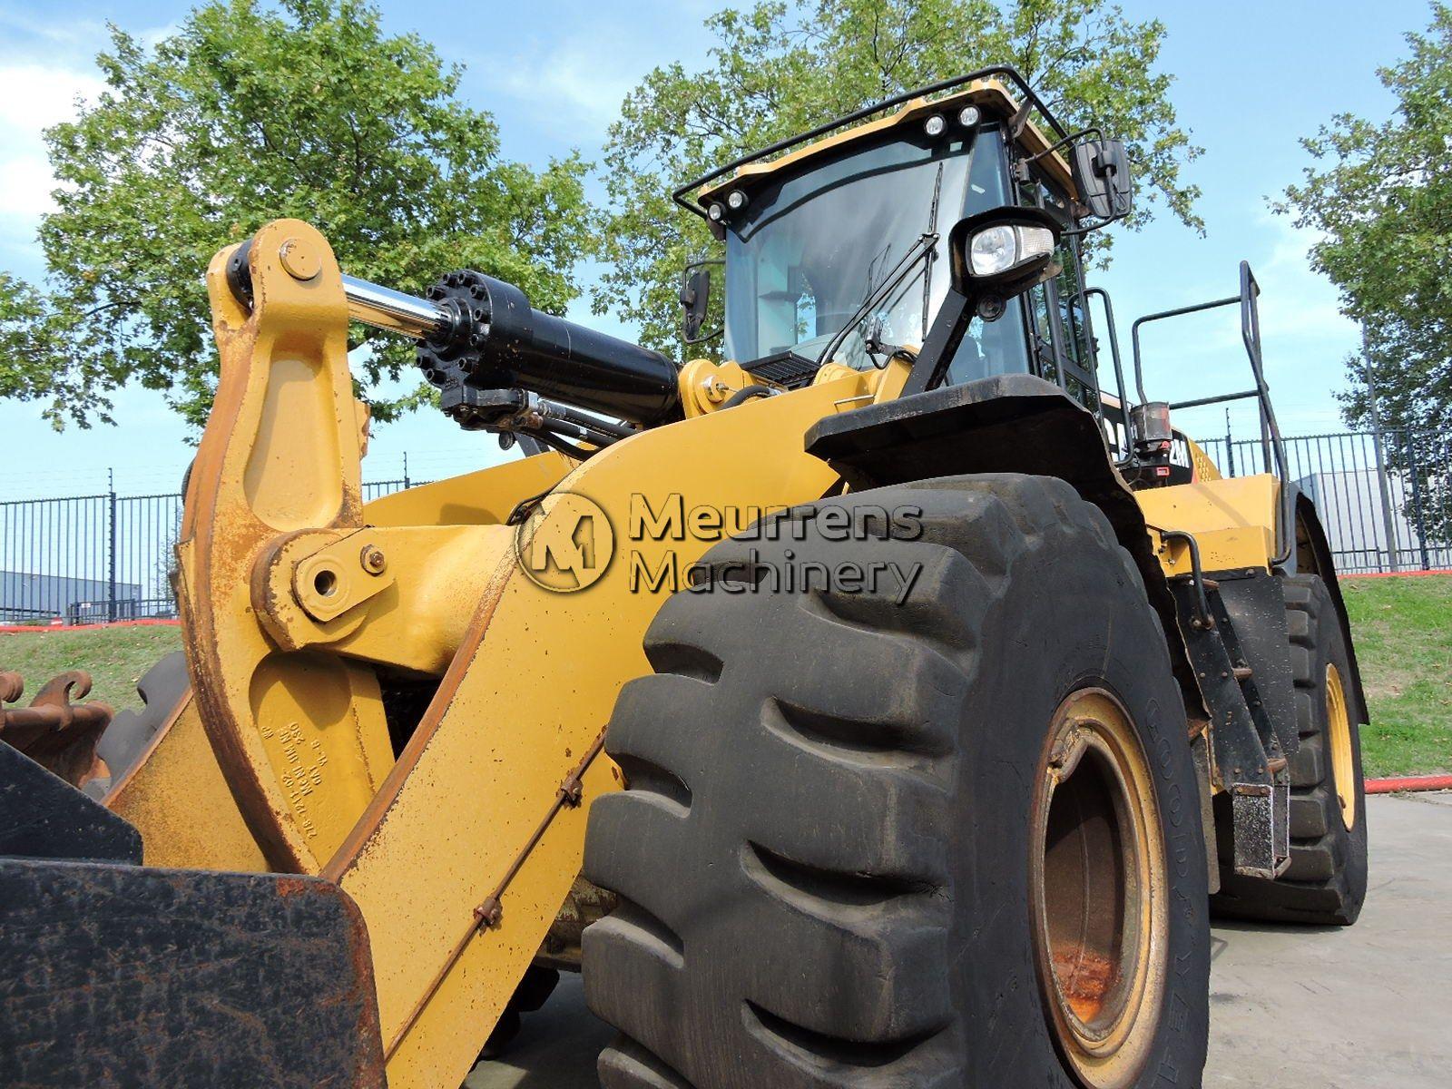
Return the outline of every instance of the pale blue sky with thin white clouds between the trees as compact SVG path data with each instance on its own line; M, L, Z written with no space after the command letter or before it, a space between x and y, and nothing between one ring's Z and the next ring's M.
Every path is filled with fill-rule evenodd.
M465 97L499 122L505 152L524 161L579 148L598 158L605 125L624 93L652 67L701 60L711 39L701 28L719 3L701 0L533 0L440 10L383 0L389 30L430 38L468 68ZM0 0L0 269L42 274L35 245L48 208L49 174L39 132L67 118L77 94L94 94L93 57L107 20L148 38L164 36L190 4L167 0ZM1162 19L1169 35L1160 67L1176 77L1173 99L1205 154L1188 167L1204 189L1207 237L1162 221L1121 232L1112 267L1099 274L1115 299L1121 333L1138 314L1236 292L1236 267L1249 258L1262 285L1266 373L1286 434L1339 430L1334 392L1356 330L1336 309L1331 287L1305 261L1313 238L1272 216L1268 197L1300 177L1307 155L1297 142L1333 113L1384 118L1392 103L1375 68L1406 52L1403 35L1429 20L1423 0L1365 4L1217 4L1122 0L1134 17ZM472 16L472 17L470 17ZM447 35L440 33L447 28ZM967 57L964 70L998 58ZM443 272L443 270L441 270ZM584 276L591 276L588 267ZM594 318L584 301L572 317L629 335L613 318ZM1150 393L1199 396L1244 388L1249 367L1231 311L1147 333ZM116 396L118 427L54 434L36 405L0 404L0 499L103 491L115 469L123 494L173 491L190 459L186 427L160 395ZM1221 409L1186 414L1192 434L1223 434ZM1240 415L1237 434L1250 436ZM491 437L468 436L434 412L379 428L366 479L428 478L498 460Z

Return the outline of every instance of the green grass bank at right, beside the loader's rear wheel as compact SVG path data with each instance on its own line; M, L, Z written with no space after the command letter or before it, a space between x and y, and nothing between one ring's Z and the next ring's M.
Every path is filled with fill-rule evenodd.
M1342 579L1371 704L1366 774L1452 771L1452 575Z

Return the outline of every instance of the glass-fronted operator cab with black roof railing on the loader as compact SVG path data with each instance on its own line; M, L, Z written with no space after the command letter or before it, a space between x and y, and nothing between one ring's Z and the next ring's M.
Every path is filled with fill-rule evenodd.
M698 338L720 335L722 357L788 388L829 362L880 367L899 348L916 350L948 293L957 222L1006 206L1041 208L1063 228L1077 222L1083 209L1056 136L1025 123L990 81L915 99L697 189L693 211L725 242L720 319ZM1057 277L1008 299L999 317L970 321L944 382L1031 373L1115 414L1099 393L1077 237L1059 263ZM682 290L688 314L697 306L691 333L706 321L707 283L697 270Z

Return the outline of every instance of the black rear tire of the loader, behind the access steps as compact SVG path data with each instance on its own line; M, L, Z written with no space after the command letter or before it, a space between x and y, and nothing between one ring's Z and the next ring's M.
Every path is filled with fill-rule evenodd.
M1237 919L1349 926L1366 899L1366 784L1352 688L1355 677L1340 616L1318 575L1284 579L1291 636L1291 678L1301 748L1291 772L1291 865L1276 880L1241 877L1221 864L1211 910ZM1342 819L1329 738L1327 666L1345 680L1349 700L1355 819Z

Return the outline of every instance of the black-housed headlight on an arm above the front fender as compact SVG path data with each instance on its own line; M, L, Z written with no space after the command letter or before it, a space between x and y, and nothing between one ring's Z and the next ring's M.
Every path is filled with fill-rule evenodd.
M993 319L1003 303L1059 274L1060 224L1043 208L995 208L960 219L948 235L953 286Z

